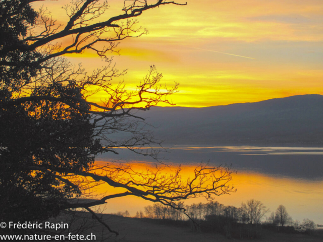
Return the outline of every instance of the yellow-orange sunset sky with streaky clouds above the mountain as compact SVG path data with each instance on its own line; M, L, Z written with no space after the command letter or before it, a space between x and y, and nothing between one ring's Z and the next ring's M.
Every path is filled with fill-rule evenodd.
M107 17L122 13L123 1L108 2ZM44 5L63 23L68 3L34 6ZM128 69L124 80L133 85L155 65L162 83L180 83L171 97L178 106L323 94L321 0L188 0L187 6L161 6L138 20L149 34L121 42L117 68ZM88 71L105 64L91 52L68 58Z

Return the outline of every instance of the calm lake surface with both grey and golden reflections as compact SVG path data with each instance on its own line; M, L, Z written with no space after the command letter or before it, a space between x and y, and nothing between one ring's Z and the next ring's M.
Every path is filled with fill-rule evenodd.
M148 157L125 149L120 155L104 154L97 161L152 162ZM237 193L217 199L225 205L241 206L248 199L260 200L271 212L283 204L292 218L309 218L323 224L323 148L321 147L260 147L260 146L174 146L160 152L163 162L194 167L202 162L228 164L237 171L233 184ZM187 201L206 202L202 199ZM107 212L124 211L134 215L149 202L140 199L116 199L109 202ZM110 210L110 211L109 211ZM268 214L269 215L269 214Z

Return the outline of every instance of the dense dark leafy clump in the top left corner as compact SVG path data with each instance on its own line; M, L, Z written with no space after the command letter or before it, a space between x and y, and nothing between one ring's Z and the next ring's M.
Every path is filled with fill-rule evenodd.
M3 95L18 91L36 75L41 53L26 49L28 29L36 23L37 13L28 1L4 0L0 6L0 86Z

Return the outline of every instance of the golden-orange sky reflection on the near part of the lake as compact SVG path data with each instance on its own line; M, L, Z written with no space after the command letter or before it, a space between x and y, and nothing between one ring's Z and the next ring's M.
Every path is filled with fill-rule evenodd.
M102 165L105 162L96 162ZM135 171L144 172L147 168L154 169L153 163L136 162L131 163ZM182 165L181 174L183 179L192 176L194 168L192 165ZM165 174L174 172L177 166L169 167L164 170ZM236 193L231 195L222 195L216 200L226 206L240 207L241 202L248 199L261 201L270 212L283 204L288 213L294 220L303 220L309 218L314 222L323 223L323 181L313 181L306 179L295 179L289 177L272 176L268 174L238 171L232 174L232 184L237 189ZM101 185L97 193L115 194L125 192L124 189L112 188L107 185ZM205 198L194 198L185 201L185 204L206 203ZM128 210L131 216L136 211L144 211L144 207L152 205L151 202L141 198L128 196L108 200L105 205L105 213L116 213L118 211ZM267 215L270 215L268 213Z

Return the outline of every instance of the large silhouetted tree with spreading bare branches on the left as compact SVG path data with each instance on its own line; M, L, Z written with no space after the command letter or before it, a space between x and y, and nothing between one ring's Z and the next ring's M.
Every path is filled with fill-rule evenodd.
M162 75L151 66L136 90L129 91L125 83L113 83L126 71L116 70L107 54L117 51L119 41L147 33L134 17L163 5L185 4L127 0L123 14L101 21L99 17L109 9L106 2L78 0L64 7L69 21L58 25L46 10L36 13L32 2L4 0L0 9L0 31L8 35L0 39L0 212L5 221L45 219L62 210L84 208L117 234L92 206L131 195L182 209L178 202L183 199L213 199L234 191L228 167L200 165L183 180L180 168L165 175L163 164L141 173L129 165L93 163L97 154L117 154L119 147L157 157L158 150L151 147L160 142L135 111L161 102L173 104L168 96L178 84L161 86ZM70 42L54 44L62 38ZM107 47L100 47L102 42ZM86 49L106 61L104 68L90 75L63 57ZM98 90L105 92L105 98L90 102ZM112 138L120 133L128 136ZM95 201L78 199L102 183L126 191Z

